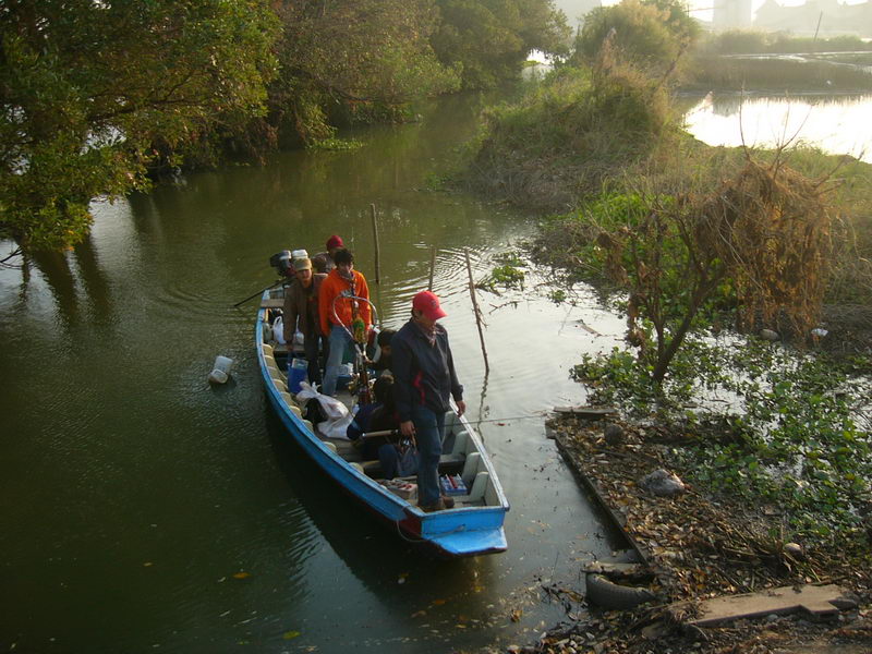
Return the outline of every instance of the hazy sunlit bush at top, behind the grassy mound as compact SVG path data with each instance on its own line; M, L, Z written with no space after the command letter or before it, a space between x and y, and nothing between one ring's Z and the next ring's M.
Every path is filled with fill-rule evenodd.
M698 23L677 1L622 0L585 16L572 61L594 63L608 49L616 60L629 62L650 76L665 77L699 34Z

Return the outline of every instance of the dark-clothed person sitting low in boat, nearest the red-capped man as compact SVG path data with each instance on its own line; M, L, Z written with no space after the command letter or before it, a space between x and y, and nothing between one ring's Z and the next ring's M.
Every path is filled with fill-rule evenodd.
M412 467L408 462L403 465L401 452L390 438L374 436L361 440L361 436L367 432L392 431L399 426L393 402L393 377L383 375L376 379L373 384L373 397L374 402L358 409L354 420L346 429L346 436L358 446L364 461L378 459L386 480L414 474L417 465Z

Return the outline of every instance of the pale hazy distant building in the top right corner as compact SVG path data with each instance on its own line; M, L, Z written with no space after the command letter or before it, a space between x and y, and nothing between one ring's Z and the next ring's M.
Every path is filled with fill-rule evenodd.
M775 0L765 0L756 10L754 27L795 34L872 36L872 2L840 4L838 0L807 0L798 7L783 7Z

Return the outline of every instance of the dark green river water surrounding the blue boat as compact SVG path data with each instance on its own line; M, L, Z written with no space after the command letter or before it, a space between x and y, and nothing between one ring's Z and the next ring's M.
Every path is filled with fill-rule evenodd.
M528 269L523 291L480 296L485 376L464 250L481 279L535 223L424 190L482 101L360 130L354 152L286 153L96 203L85 244L27 275L0 270L0 650L450 652L530 642L564 617L542 583L582 590L580 565L620 542L543 414L584 402L569 370L617 343L621 320L584 289L550 302ZM489 421L480 429L511 501L507 553L422 557L310 470L268 407L256 303L232 304L274 281L271 254L319 251L331 233L392 327L437 247L469 414ZM210 388L218 354L233 376Z

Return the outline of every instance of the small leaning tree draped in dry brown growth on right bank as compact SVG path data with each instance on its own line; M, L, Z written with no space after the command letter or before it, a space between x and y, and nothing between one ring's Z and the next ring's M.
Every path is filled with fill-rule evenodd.
M744 327L782 323L806 334L816 320L832 215L820 182L789 169L780 153L768 166L749 158L708 195L647 199L625 215L597 243L606 272L629 294L628 340L641 346L656 384L718 300L737 303Z

